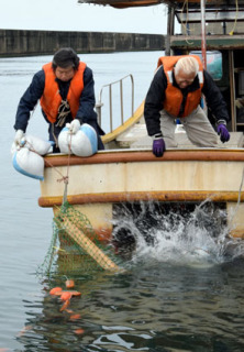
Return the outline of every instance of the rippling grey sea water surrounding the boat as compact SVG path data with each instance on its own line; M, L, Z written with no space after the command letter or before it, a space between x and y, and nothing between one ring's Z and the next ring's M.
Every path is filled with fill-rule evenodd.
M80 57L93 70L96 97L103 85L133 74L138 106L160 55ZM82 295L71 299L70 311L60 311L49 296L66 279L36 275L51 244L53 213L37 206L38 182L13 169L10 148L19 99L51 58L0 59L0 351L243 351L244 250L229 238L224 209L197 205L186 216L162 213L152 204L141 205L136 217L126 209L114 220L114 235L123 224L135 239L133 252L123 255L124 272L77 274ZM47 138L46 130L37 107L29 132Z

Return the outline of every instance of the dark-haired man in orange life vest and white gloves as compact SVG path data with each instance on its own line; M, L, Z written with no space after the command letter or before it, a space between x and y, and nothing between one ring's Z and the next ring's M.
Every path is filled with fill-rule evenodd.
M70 47L60 48L53 62L37 72L22 96L15 118L14 143L19 145L27 128L30 113L40 100L42 113L49 124L49 140L54 152L59 152L58 134L66 123L70 133L78 132L82 123L90 124L98 135L98 150L103 150L100 135L104 134L95 112L95 81L92 70L79 61Z

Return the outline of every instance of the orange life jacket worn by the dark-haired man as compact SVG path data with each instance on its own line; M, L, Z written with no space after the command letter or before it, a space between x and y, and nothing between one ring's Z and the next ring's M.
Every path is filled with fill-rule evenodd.
M73 119L75 119L79 109L79 98L84 90L84 72L86 66L87 65L85 63L79 63L79 67L75 72L68 89L67 101L69 103ZM45 87L42 98L40 99L40 103L47 120L51 123L54 123L57 119L62 97L59 95L58 84L55 80L56 76L52 68L52 63L44 65L43 70L45 73Z

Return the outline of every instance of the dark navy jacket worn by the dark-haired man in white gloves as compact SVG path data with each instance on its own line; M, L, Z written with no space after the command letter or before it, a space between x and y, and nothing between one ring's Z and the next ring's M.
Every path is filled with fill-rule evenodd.
M59 94L62 98L65 100L68 94L70 80L62 81L59 79L56 79L56 81L58 84ZM31 111L34 110L37 101L42 97L44 87L45 87L45 74L44 74L44 70L42 69L34 75L31 85L29 86L29 88L20 99L20 103L16 110L15 124L13 127L15 130L22 130L24 132L26 131ZM97 113L93 110L95 103L96 103L93 88L95 88L95 81L93 81L92 70L89 67L86 67L84 72L84 90L79 99L80 103L79 103L79 109L78 109L76 119L79 119L81 123L90 124L96 130L98 135L98 148L103 150L104 147L103 147L100 135L103 135L104 132L98 124ZM55 123L52 125L52 123L47 120L43 110L42 110L42 113L49 125L48 127L49 140L54 141L53 133L57 139L58 134L60 133L65 124L63 127L57 127L55 125ZM71 121L73 121L73 118L71 118L71 114L69 114L66 118L65 123L71 122ZM55 152L57 151L58 150L55 150Z

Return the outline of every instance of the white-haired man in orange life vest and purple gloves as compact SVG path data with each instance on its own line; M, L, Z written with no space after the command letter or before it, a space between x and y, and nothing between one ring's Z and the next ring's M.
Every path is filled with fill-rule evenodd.
M217 122L217 132L200 107L201 95ZM164 56L145 99L147 133L153 138L153 153L163 156L167 147L177 147L175 121L178 119L188 139L197 146L215 147L218 134L230 140L230 120L221 91L196 55Z

